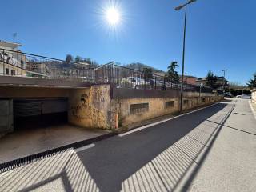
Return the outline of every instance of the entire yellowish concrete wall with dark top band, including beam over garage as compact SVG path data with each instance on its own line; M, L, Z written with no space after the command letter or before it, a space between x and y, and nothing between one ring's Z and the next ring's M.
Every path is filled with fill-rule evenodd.
M94 85L89 88L46 88L24 86L0 86L0 98L68 98L68 120L70 124L89 128L114 128L133 122L172 114L179 110L178 90L128 90L110 85ZM209 105L220 98L214 94L184 93L184 110ZM174 106L166 107L166 102ZM133 104L148 103L146 111L131 113ZM46 107L50 109L50 105ZM136 111L137 112L137 111Z

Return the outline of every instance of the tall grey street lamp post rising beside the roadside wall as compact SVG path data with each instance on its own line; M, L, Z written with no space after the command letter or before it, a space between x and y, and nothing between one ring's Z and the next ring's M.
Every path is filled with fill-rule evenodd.
M183 54L182 54L182 86L181 86L181 105L180 105L180 112L182 112L183 108L183 84L184 84L184 63L185 63L185 46L186 46L186 8L192 2L196 2L196 0L190 0L189 2L178 6L175 10L182 10L185 7L185 22L184 22L184 36L183 36Z

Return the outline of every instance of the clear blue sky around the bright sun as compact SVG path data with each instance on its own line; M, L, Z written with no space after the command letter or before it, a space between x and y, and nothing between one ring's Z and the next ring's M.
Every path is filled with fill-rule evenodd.
M1 1L0 39L22 43L21 50L52 58L66 54L110 61L142 62L182 70L186 0L8 0ZM106 10L115 7L120 22L110 26ZM198 0L188 6L185 73L205 77L226 72L245 84L256 72L256 1Z

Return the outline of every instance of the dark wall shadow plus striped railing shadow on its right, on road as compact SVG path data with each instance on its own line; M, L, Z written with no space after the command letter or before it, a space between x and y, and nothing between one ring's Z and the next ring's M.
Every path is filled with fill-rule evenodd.
M219 103L122 138L97 142L78 156L100 191L175 190L190 166L200 169L233 109Z

